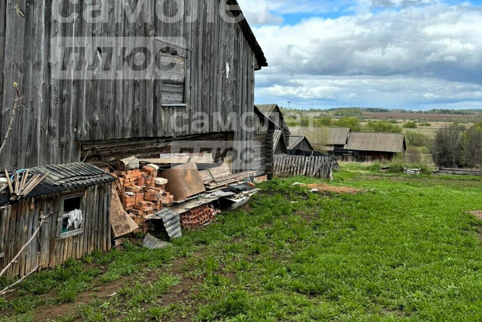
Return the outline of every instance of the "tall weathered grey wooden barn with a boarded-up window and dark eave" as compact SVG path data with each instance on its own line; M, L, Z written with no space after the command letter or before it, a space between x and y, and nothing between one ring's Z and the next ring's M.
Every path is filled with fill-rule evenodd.
M179 140L219 141L219 146L237 151L250 148L254 133L239 124L253 122L243 115L253 113L255 71L267 61L242 12L207 0L185 0L182 12L173 0L162 6L126 3L99 3L105 20L87 22L82 17L89 2L0 2L0 136L7 132L12 114L14 82L25 104L0 156L1 167L13 170L133 154L153 157ZM135 12L142 3L139 17L131 20L126 10ZM228 4L237 5L235 0ZM161 21L161 9L166 17L180 19ZM238 17L237 22L226 21L219 12ZM78 18L64 23L53 13ZM160 77L150 70L140 78L115 73L105 77L99 69L89 77L58 78L54 71L72 63L57 46L59 37L66 37L60 44L74 40L74 51L83 48L104 67L110 57L136 65L137 55L114 51L109 56L92 45L95 37L126 47L135 45L133 38L147 37L167 48L177 67ZM82 72L87 69L81 62L78 66ZM250 170L249 164L235 162L235 171Z

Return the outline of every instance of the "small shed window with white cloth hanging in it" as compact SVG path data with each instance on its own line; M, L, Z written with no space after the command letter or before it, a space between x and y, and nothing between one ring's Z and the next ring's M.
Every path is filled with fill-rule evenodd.
M83 194L68 195L62 199L58 237L60 239L82 234L84 218L81 210Z

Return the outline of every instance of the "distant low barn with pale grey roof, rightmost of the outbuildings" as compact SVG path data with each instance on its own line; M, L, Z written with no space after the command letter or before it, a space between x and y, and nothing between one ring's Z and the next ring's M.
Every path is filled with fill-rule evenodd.
M350 132L343 149L356 161L390 160L397 153L405 153L407 144L401 133Z

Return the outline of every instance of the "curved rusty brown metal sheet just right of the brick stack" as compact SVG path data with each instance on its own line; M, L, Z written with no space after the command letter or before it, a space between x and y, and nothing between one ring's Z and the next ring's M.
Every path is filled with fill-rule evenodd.
M193 163L172 167L161 172L159 177L167 179L166 191L174 196L174 200L206 191L197 166Z

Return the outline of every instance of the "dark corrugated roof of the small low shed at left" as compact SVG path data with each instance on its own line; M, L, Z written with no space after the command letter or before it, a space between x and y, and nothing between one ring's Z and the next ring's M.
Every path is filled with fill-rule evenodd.
M116 180L102 169L81 162L35 167L30 169L30 173L31 175L47 174L47 176L26 196L26 198L84 188ZM0 206L8 203L9 200L10 193L8 191L0 194Z

